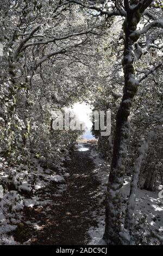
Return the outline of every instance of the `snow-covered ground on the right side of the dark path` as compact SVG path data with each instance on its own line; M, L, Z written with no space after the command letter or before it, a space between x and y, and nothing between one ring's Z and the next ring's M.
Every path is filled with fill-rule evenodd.
M101 185L98 187L97 199L99 201L99 209L92 213L92 217L98 222L98 227L91 227L89 229L89 235L91 237L90 245L104 245L102 240L104 234L104 220L105 210L103 201L105 199L106 183L108 182L109 164L107 164L102 158L99 157L98 152L92 151L91 157L96 164L93 172L97 176ZM130 191L130 177L126 177L124 186L122 188L122 204L123 214L126 210L126 201ZM151 192L145 189L137 189L135 217L136 224L139 225L140 236L148 237L149 234L156 234L162 240L163 236L163 199L159 198L159 191ZM142 228L142 230L141 230ZM146 229L146 231L144 230ZM145 231L145 234L143 232ZM151 239L148 243L158 244L158 240ZM145 238L145 240L147 240Z

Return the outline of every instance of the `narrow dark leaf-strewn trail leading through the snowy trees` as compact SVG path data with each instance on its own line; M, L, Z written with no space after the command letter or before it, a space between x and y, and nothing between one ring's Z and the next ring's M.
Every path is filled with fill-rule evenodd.
M96 194L99 186L90 158L91 145L79 144L72 152L71 160L66 162L66 189L56 195L57 186L53 184L41 190L39 196L51 203L45 207L26 209L26 222L35 222L39 229L23 227L15 234L21 243L30 238L31 245L86 245L90 241L87 231L96 227L92 213L98 207ZM24 235L23 235L24 234ZM31 239L32 237L32 239Z

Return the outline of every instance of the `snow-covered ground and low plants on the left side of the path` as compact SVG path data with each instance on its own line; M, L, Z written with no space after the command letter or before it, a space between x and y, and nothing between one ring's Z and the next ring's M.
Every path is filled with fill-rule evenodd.
M0 245L16 245L14 238L8 233L14 231L21 223L24 206L41 207L47 200L41 200L37 190L48 186L49 182L64 182L68 174L62 165L56 173L51 169L43 169L37 159L33 159L33 165L17 165L10 167L4 159L0 163ZM9 189L8 189L9 188ZM65 189L59 185L58 194Z

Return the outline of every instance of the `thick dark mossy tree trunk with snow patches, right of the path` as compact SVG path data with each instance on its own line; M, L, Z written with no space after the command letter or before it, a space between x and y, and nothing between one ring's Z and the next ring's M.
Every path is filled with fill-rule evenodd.
M150 1L147 1L148 3ZM152 2L152 1L151 1ZM130 1L131 4L131 1ZM120 245L128 243L124 236L121 223L121 187L124 182L125 162L127 156L127 143L129 139L128 116L137 92L139 82L135 79L136 57L134 45L139 39L139 31L136 31L143 11L148 5L140 8L130 8L129 1L124 0L127 17L123 23L125 33L125 44L123 53L124 90L120 109L116 116L116 130L114 139L114 150L112 164L106 191L106 212L104 240L107 244ZM126 240L126 241L124 241Z

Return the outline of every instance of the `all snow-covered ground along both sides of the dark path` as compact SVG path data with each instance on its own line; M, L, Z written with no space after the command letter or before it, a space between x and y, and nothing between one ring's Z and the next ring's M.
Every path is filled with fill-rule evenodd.
M78 151L90 150L91 158L95 163L93 174L98 178L100 185L96 188L96 200L98 207L92 212L92 217L98 223L97 227L91 227L88 234L91 237L89 245L104 245L102 240L105 219L105 190L109 176L109 164L99 157L99 153L84 144L77 146ZM68 159L70 160L70 159ZM24 207L46 207L46 198L40 199L37 191L48 186L50 182L58 182L58 195L66 189L62 184L68 176L62 164L58 166L59 172L51 169L43 169L37 159L33 159L33 165L19 165L9 167L8 163L1 159L0 163L0 245L16 245L14 238L8 233L14 231L21 224L22 210ZM10 188L8 190L8 188ZM123 215L126 201L129 195L130 178L126 177L122 188ZM48 211L48 209L46 209ZM153 231L156 235L163 236L163 199L159 198L158 192L137 189L136 198L136 225L140 229L140 236L146 237ZM39 229L37 223L27 223ZM144 233L145 229L145 233ZM150 242L149 242L150 243ZM158 244L158 240L151 239L152 244Z

